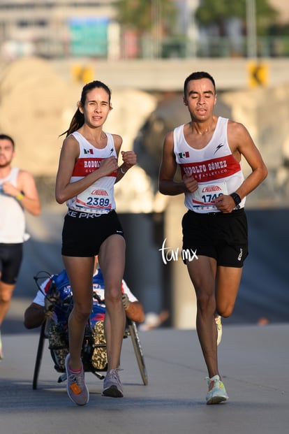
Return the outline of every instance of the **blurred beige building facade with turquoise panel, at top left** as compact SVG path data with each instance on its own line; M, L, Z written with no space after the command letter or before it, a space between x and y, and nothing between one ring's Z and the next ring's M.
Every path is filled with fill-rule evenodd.
M1 0L1 55L108 57L113 14L108 0Z

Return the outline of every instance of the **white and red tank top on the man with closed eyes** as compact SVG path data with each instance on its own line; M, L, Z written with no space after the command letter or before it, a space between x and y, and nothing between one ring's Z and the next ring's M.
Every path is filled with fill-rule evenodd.
M228 145L228 119L218 117L216 129L209 143L202 149L188 145L184 138L184 125L174 130L174 152L181 176L193 175L198 181L198 190L185 193L185 205L189 210L205 213L218 212L212 203L222 194L231 194L244 181L241 164L233 157ZM239 208L243 208L246 198Z

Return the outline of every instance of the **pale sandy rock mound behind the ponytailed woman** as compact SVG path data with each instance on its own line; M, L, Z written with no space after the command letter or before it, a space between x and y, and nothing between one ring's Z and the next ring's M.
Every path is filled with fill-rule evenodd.
M59 134L71 122L82 85L59 77L52 64L43 59L22 58L1 73L0 131L15 140L15 166L33 173L38 185L39 180L50 179L48 185L53 188L63 140ZM112 105L105 129L123 137L123 150L132 149L156 101L134 89L112 89ZM44 190L43 185L39 188ZM133 168L116 186L116 194L122 212L151 212L154 208L149 177L140 167Z

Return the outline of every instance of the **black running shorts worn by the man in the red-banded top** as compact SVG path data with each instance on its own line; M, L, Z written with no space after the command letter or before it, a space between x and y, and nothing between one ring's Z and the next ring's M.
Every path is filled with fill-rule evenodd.
M183 251L212 257L218 266L241 268L244 265L248 256L248 224L244 208L228 214L200 214L188 210L181 224ZM186 263L186 254L182 257Z

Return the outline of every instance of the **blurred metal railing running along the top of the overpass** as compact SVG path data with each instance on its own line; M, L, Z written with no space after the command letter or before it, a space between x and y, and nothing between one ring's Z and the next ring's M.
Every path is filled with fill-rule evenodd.
M117 47L108 41L83 39L69 40L55 34L42 36L31 41L1 41L2 57L17 58L35 55L45 59L71 59L73 57L90 57L101 59L173 59L196 57L250 57L246 38L235 40L225 37L202 37L190 41L185 37L162 38L122 38ZM100 50L101 47L101 50ZM258 57L289 57L289 36L267 36L257 38Z

